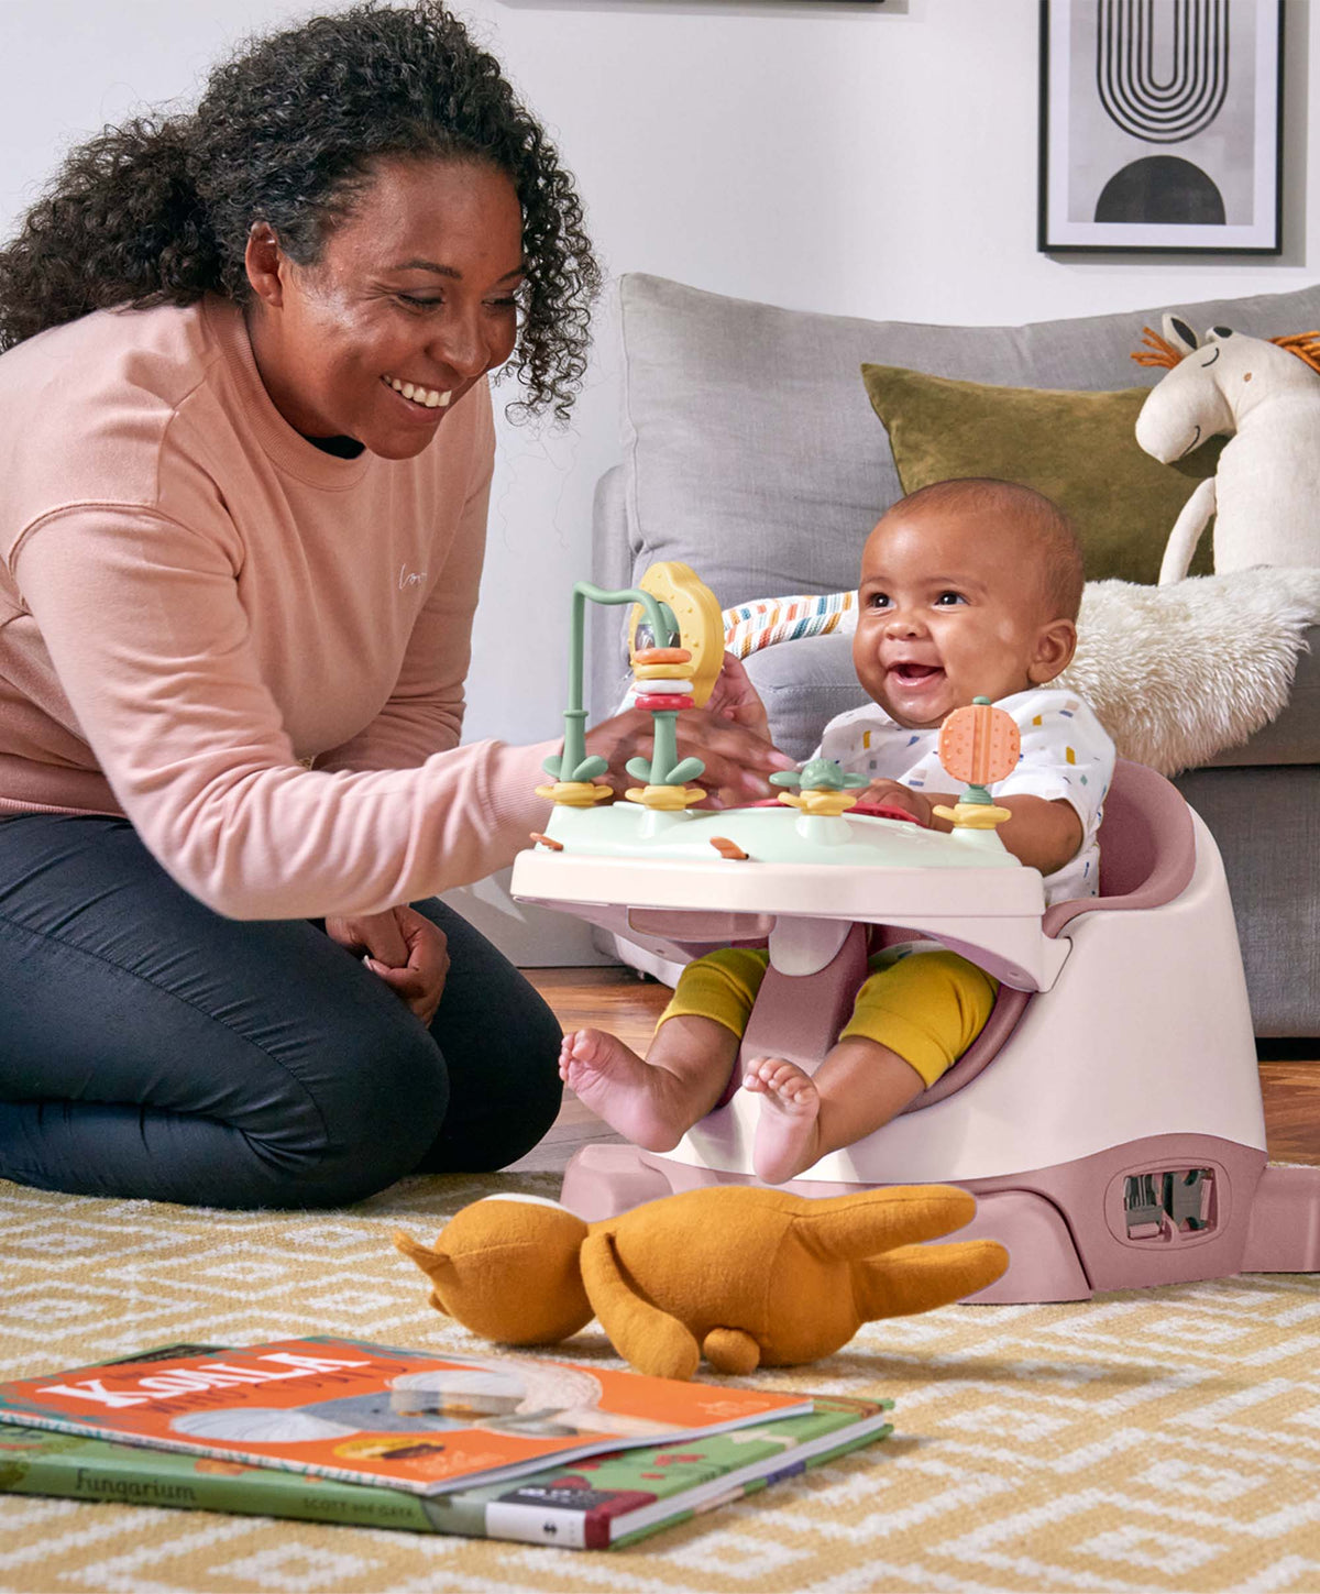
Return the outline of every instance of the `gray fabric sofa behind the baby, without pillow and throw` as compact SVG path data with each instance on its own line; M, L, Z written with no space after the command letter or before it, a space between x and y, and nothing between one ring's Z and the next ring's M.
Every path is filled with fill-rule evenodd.
M628 587L657 559L682 559L729 606L856 583L867 531L902 496L862 362L1001 386L1133 387L1161 375L1129 355L1162 311L1197 330L1277 336L1320 327L1320 287L1027 327L931 327L630 274L620 309L623 462L596 489L591 579ZM628 684L619 617L591 614L595 717ZM767 649L749 668L794 757L862 701L837 636ZM1277 720L1177 784L1224 858L1256 1033L1320 1036L1320 658L1302 654Z

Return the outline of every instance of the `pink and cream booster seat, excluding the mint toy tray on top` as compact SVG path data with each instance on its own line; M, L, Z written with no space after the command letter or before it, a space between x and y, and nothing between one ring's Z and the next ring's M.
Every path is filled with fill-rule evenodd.
M646 888L627 870L615 870L619 886L639 891L627 905L556 899L526 867L515 867L513 888L668 960L768 936L772 964L741 1057L788 1057L808 1071L851 1009L867 925L934 936L1000 976L985 1030L942 1079L786 1186L972 1191L979 1210L963 1234L1001 1240L1012 1258L974 1299L1070 1301L1317 1269L1320 1168L1266 1165L1247 987L1213 837L1169 781L1119 760L1100 848L1100 896L1046 909L1035 944L993 904L945 913L878 875L875 913L848 920L824 917L829 904L811 918L655 901L673 902L673 891L639 905ZM587 1146L569 1164L564 1205L596 1219L671 1191L757 1183L757 1111L738 1090L671 1152Z

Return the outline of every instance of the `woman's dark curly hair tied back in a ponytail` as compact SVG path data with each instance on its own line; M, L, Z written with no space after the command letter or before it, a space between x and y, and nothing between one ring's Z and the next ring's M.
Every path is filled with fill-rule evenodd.
M569 174L493 56L440 0L357 5L257 40L198 108L107 128L73 150L0 252L0 349L112 304L252 296L253 222L312 265L386 156L489 164L523 207L512 368L563 421L587 367L601 273Z

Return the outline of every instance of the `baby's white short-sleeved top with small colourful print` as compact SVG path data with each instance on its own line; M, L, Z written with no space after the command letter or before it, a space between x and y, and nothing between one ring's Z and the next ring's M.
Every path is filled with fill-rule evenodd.
M1063 799L1082 823L1078 853L1046 875L1046 902L1097 896L1100 889L1100 819L1114 778L1114 744L1100 720L1074 692L1033 687L1001 698L1022 735L1017 768L990 787L992 797L1028 794L1047 802ZM813 757L839 759L851 775L891 779L913 791L958 792L958 783L939 762L939 728L896 725L878 703L837 714L821 733Z

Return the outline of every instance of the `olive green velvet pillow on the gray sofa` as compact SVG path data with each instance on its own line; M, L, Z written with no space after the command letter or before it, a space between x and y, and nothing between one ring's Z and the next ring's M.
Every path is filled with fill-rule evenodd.
M1022 481L1073 516L1087 580L1154 582L1178 510L1223 448L1212 438L1177 465L1145 453L1133 427L1148 387L988 387L896 365L862 365L862 379L904 493L952 477ZM1210 561L1207 528L1191 574Z

